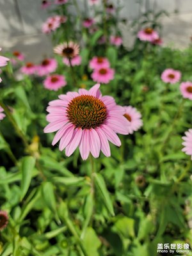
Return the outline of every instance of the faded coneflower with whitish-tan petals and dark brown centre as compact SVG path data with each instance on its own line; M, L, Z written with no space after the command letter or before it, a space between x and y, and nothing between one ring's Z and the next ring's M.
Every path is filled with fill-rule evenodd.
M79 45L72 41L59 44L53 49L56 54L66 58L74 58L79 54L79 50Z

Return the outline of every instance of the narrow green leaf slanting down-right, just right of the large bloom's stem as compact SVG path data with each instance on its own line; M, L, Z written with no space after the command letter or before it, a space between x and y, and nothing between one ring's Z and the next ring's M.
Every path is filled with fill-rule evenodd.
M97 189L99 191L99 195L102 198L102 201L104 202L104 205L110 212L112 216L115 216L115 212L113 209L113 203L111 201L108 189L106 188L106 183L102 177L102 175L95 173L95 184L97 186Z

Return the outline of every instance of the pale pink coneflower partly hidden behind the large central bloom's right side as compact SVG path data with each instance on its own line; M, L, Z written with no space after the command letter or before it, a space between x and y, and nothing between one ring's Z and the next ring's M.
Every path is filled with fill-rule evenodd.
M124 116L129 121L128 131L132 134L134 131L138 131L138 129L140 129L140 127L143 125L141 114L137 111L136 108L133 108L132 106L125 106L124 108Z

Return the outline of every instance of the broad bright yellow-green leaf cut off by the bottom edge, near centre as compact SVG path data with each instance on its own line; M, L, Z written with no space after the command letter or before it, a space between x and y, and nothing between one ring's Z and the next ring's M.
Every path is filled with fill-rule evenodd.
M87 255L99 256L97 250L99 249L101 242L95 233L93 228L88 227L83 239L84 248Z

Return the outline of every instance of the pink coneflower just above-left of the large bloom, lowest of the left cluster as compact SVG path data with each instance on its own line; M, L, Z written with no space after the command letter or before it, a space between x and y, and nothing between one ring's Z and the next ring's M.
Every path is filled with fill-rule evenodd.
M47 76L43 83L46 89L53 91L58 91L61 87L64 87L67 84L65 76L56 74Z

